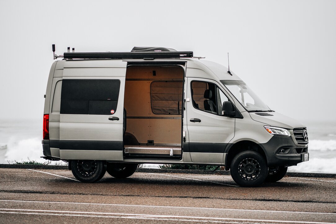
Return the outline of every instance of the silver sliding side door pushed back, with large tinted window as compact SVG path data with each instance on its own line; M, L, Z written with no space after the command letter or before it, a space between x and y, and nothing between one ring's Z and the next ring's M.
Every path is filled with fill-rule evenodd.
M126 63L109 68L64 68L59 149L61 159L123 160Z

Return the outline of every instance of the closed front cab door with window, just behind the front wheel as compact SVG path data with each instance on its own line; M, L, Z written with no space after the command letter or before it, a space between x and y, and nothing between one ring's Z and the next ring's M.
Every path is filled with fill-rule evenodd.
M222 105L233 100L220 84L202 78L187 78L186 98L186 150L190 151L192 162L223 163L224 149L235 135L235 118L224 117Z

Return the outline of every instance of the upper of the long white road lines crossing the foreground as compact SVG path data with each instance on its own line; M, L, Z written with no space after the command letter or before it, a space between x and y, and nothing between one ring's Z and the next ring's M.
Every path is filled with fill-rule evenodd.
M221 208L202 208L202 207L180 207L180 206L156 206L156 205L124 205L124 204L103 204L103 203L87 203L87 202L64 202L64 201L34 201L34 200L6 200L0 201L10 202L28 202L28 203L55 203L55 204L77 204L77 205L103 205L103 206L123 206L123 207L146 207L146 208L170 208L170 209L206 209L206 210L221 210L221 211L247 211L247 212L277 212L277 213L302 213L302 214L330 214L330 212L295 212L295 211L275 211L275 210L253 210L253 209L221 209Z

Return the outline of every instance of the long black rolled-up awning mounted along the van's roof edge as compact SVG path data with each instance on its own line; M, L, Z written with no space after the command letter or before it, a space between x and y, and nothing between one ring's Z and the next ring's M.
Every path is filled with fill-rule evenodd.
M64 52L65 59L156 59L156 58L190 58L193 51L158 51L158 52Z

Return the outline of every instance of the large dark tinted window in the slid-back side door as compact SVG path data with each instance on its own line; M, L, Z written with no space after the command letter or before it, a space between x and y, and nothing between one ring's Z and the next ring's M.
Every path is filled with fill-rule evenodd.
M111 115L117 110L119 80L64 79L60 114Z

